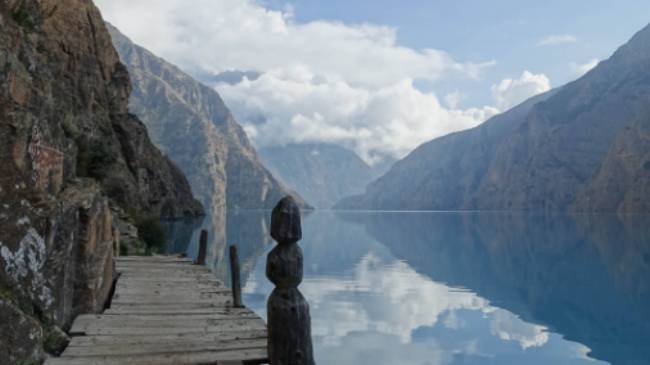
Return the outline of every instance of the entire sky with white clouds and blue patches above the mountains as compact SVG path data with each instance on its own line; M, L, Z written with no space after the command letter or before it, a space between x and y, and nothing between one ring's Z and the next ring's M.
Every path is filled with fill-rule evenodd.
M580 77L650 22L641 0L95 4L215 87L257 147L335 143L371 164Z

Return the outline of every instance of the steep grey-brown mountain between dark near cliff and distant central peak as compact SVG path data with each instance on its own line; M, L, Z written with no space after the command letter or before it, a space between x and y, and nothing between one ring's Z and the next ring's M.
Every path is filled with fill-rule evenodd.
M272 208L292 194L262 165L215 90L107 26L133 82L129 109L187 175L205 207Z

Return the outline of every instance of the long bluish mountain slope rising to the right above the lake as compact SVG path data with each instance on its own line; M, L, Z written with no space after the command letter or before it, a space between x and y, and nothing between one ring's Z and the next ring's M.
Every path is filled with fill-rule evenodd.
M646 27L580 79L423 144L338 207L650 211L649 103Z

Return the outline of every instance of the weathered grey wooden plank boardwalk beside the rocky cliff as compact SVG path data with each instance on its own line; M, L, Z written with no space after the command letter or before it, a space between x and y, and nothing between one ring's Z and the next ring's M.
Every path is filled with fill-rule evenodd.
M70 345L46 365L259 364L266 324L233 308L232 294L203 266L170 256L119 257L111 307L81 315Z

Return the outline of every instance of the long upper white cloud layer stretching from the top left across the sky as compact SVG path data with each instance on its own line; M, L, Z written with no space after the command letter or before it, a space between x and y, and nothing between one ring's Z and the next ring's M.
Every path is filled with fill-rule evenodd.
M461 64L436 49L403 47L396 30L370 24L293 21L251 0L95 0L106 19L136 43L178 64L219 73L307 65L352 84L404 78L436 80L445 72L477 77L484 64Z

